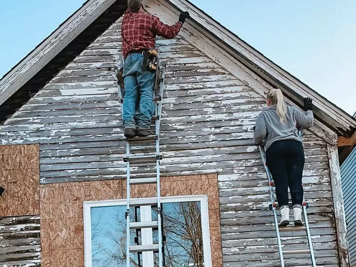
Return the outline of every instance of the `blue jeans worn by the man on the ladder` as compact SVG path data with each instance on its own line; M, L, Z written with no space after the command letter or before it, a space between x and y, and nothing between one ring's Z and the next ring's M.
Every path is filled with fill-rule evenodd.
M156 74L142 71L142 54L129 54L124 62L125 97L123 105L124 128L149 129L155 110L154 84ZM139 109L137 125L135 110Z

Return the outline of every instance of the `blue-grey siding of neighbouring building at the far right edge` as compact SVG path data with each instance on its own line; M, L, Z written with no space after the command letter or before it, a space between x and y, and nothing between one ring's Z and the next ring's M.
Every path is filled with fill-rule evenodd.
M356 147L341 165L341 179L347 223L350 264L351 266L356 266Z

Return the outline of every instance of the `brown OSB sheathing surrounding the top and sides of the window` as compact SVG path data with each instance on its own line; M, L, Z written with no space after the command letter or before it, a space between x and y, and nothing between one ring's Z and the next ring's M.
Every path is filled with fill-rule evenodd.
M150 197L156 187L132 186L131 197ZM213 266L222 266L217 174L162 177L162 196L204 194L209 199ZM83 201L126 198L126 181L40 185L42 266L84 266Z

